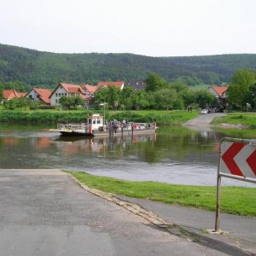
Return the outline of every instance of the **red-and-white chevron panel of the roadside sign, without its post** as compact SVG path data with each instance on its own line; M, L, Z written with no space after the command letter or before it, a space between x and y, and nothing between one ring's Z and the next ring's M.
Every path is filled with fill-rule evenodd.
M250 143L222 142L219 172L256 178L256 146Z

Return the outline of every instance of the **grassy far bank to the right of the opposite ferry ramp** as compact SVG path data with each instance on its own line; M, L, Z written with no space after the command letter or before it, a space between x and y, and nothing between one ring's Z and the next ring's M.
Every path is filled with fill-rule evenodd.
M256 113L229 113L228 115L216 118L212 121L212 125L244 125L256 128Z

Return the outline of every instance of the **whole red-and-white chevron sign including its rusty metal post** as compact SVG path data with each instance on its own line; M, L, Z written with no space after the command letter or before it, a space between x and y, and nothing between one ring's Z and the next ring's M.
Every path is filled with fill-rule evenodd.
M215 232L218 232L221 177L256 183L256 140L224 137L220 141Z

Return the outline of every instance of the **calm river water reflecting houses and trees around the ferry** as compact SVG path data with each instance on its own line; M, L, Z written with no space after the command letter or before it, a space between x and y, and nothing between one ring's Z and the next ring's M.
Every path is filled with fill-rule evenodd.
M1 124L0 168L61 168L137 181L216 185L219 139L253 133L168 126L153 135L65 138L49 128L54 127ZM256 187L228 178L223 184Z

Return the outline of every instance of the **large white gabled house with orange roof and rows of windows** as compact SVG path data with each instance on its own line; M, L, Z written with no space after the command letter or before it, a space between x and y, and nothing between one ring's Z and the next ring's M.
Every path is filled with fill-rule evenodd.
M49 96L50 106L59 106L61 96L82 96L84 101L89 99L89 96L85 93L81 85L60 83Z

